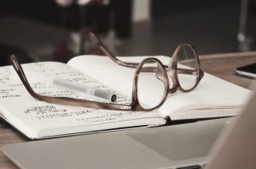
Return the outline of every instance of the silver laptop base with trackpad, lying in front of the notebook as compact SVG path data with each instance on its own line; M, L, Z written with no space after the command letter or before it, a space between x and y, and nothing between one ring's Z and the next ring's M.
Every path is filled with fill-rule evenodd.
M256 103L255 97L253 103ZM9 144L3 146L2 150L20 168L196 169L208 163L207 155L219 134L234 120L236 118L224 118L55 138ZM254 128L255 124L253 122Z

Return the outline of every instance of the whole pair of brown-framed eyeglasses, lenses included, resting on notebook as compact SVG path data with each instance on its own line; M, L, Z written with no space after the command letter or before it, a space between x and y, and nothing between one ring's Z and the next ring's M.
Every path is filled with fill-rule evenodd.
M130 105L40 95L34 92L30 86L18 59L16 59L15 55L11 55L11 63L20 77L21 82L26 87L27 92L34 99L50 104L65 104L104 110L149 111L159 108L165 102L169 93L175 93L177 90L182 92L193 90L204 75L200 67L198 55L189 43L183 43L177 47L172 55L170 64L167 66L163 65L159 59L151 57L143 59L140 63L123 62L111 54L96 35L90 33L90 38L115 63L125 67L136 68L133 77ZM189 67L179 65L178 63L189 65ZM170 87L170 82L173 83L172 87ZM150 106L144 104L144 99L148 99L148 97L152 97L151 99L153 100Z

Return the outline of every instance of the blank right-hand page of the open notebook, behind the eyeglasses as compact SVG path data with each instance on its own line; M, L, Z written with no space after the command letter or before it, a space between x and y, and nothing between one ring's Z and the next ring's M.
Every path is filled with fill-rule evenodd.
M165 56L155 56L160 59L165 65L168 65L171 58ZM120 59L129 62L139 62L146 57L120 57ZM115 64L108 57L85 55L78 56L71 59L68 65L77 67L79 70L86 72L90 76L94 76L97 81L108 84L109 87L115 88L120 93L125 93L131 96L132 81L135 73L133 68L125 68ZM112 78L112 81L108 79ZM154 94L158 94L158 91L150 91ZM230 82L219 79L218 77L205 74L198 87L189 93L172 93L169 94L166 102L158 110L162 115L170 115L172 113L182 111L186 106L190 106L190 110L193 112L202 112L207 109L217 109L221 107L221 113L216 114L216 111L208 111L207 115L212 116L225 116L225 110L227 115L236 115L235 108L239 108L247 102L250 95L250 91L245 88L238 87ZM154 104L154 98L148 97L145 93L144 104ZM150 93L152 96L152 93ZM229 110L230 109L230 110ZM189 110L187 110L189 111ZM212 112L212 113L211 113ZM193 113L187 113L186 118L194 118ZM195 115L198 117L200 114ZM206 115L203 115L204 117ZM176 115L176 119L178 115ZM183 115L184 117L184 115Z

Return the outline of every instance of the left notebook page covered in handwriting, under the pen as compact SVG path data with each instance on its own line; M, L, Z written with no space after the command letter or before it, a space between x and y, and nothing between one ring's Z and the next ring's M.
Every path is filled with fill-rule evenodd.
M85 84L89 87L109 89L102 83L96 82L90 76L84 76L78 70L61 63L41 62L22 65L28 82L36 93L49 96L65 96L77 99L91 99L88 95L81 94L65 87L57 87L52 84L58 77L65 81ZM129 121L133 119L154 118L153 124L163 124L164 119L154 115L132 111L94 110L88 108L48 104L33 99L27 93L15 70L11 66L0 68L0 111L8 121L24 132L30 138L45 137L44 134L68 134L73 132L87 132L96 129L108 129L108 125L96 127L100 124L108 124L116 121ZM111 90L112 91L112 90ZM114 92L114 91L113 91ZM119 103L129 104L124 96L118 94ZM158 115L160 117L160 115ZM145 122L145 121L143 121ZM138 122L137 122L138 123ZM117 123L116 123L117 124ZM148 123L146 122L145 125ZM124 126L121 123L117 126ZM132 121L126 123L133 126ZM90 126L90 127L89 127ZM106 128L107 127L107 128ZM55 132L50 132L54 130ZM43 135L39 135L39 134Z

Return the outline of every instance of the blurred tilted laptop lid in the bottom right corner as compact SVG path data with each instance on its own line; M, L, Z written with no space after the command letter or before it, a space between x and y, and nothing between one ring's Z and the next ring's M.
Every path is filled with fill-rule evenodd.
M255 104L256 93L232 127L226 128L218 138L218 142L212 148L211 162L207 169L256 168Z

